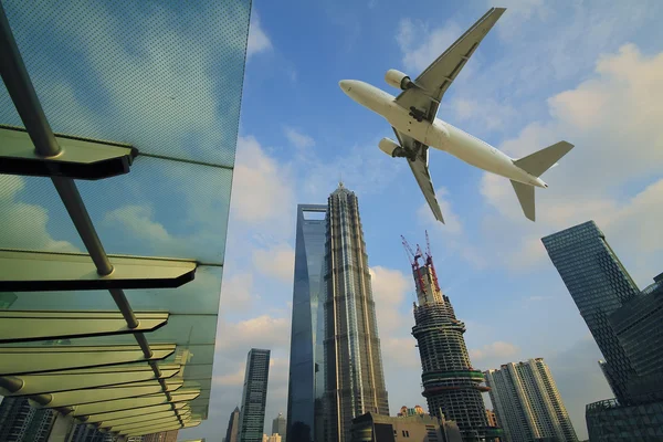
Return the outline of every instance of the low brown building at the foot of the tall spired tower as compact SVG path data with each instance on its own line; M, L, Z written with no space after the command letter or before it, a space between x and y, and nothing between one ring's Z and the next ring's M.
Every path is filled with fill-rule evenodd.
M463 442L452 421L428 414L390 418L366 413L352 420L351 442Z

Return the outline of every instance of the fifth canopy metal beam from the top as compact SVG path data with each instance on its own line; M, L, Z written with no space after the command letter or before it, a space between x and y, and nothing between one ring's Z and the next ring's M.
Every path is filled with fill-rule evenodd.
M180 371L179 365L165 365L161 376L171 378ZM2 379L2 378L0 378ZM28 396L54 393L59 391L81 390L86 388L133 385L147 380L156 381L154 371L148 365L143 366L114 366L86 368L80 370L51 371L41 375L24 375L11 377L19 379L19 388L0 389L2 396ZM4 391L3 391L4 390Z

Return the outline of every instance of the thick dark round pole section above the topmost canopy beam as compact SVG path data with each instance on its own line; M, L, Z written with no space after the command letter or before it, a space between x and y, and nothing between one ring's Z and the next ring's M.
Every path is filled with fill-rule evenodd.
M17 107L38 155L54 157L60 146L49 126L36 92L28 76L25 64L9 27L9 20L0 3L0 67L4 86Z

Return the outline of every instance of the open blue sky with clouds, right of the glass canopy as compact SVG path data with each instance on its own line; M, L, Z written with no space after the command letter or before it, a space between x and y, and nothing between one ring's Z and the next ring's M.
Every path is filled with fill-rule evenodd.
M265 429L286 410L296 203L325 203L343 176L359 197L391 411L425 406L400 243L429 230L440 281L467 325L475 367L544 357L579 436L585 404L610 397L600 352L539 239L594 219L636 282L661 269L656 221L663 160L656 129L663 74L661 7L506 1L438 114L512 156L576 145L537 192L527 221L506 180L431 154L446 225L435 224L403 161L377 147L391 130L338 81L418 75L493 2L254 1L231 202L217 354L220 422L239 403L245 352L273 349ZM239 358L239 359L238 359ZM217 410L214 411L214 414Z

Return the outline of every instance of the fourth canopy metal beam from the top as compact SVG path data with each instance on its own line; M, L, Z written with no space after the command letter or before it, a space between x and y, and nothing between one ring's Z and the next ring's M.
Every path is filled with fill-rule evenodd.
M175 348L175 344L154 345L150 359L167 358ZM143 350L135 345L0 347L0 375L18 376L145 360Z

